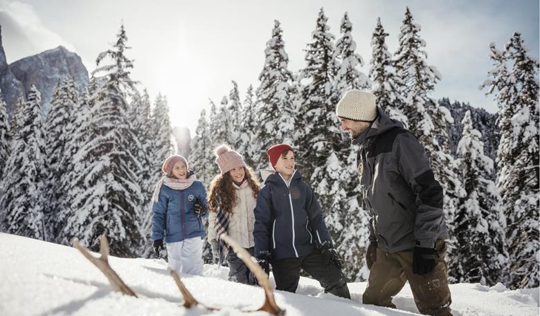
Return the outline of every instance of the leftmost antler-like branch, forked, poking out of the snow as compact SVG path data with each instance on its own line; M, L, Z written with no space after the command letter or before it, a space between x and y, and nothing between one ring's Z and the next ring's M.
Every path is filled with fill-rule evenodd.
M73 247L77 248L84 255L84 257L86 257L91 263L93 263L94 266L98 267L98 269L103 272L105 277L109 279L109 283L111 284L111 288L113 290L122 292L125 295L137 297L135 292L127 285L125 285L124 281L122 281L122 279L118 277L118 275L116 274L116 272L114 272L111 266L109 266L109 243L105 234L102 234L100 236L101 257L99 258L93 257L93 255L90 254L87 248L84 248L82 245L80 245L78 239L73 238L71 241L73 242Z

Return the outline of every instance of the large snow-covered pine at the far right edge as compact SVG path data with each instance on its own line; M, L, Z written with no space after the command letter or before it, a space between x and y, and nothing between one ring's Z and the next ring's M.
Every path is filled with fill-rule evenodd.
M494 44L490 49L495 68L482 87L495 95L500 107L497 187L507 220L508 285L532 288L540 281L539 62L527 55L518 32L505 50Z

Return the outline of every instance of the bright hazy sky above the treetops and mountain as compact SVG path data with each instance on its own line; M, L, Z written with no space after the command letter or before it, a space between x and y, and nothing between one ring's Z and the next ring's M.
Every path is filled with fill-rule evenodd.
M489 44L502 48L518 31L530 55L539 57L537 0L0 0L0 25L8 63L62 45L78 53L91 72L123 23L132 46L127 52L134 59L132 78L152 99L166 95L172 125L188 127L193 136L201 109L208 111L209 98L219 104L232 89L231 80L241 100L249 84L258 86L274 19L282 26L289 69L298 71L305 66L319 10L324 8L336 38L348 12L357 53L366 62L360 70L368 73L377 17L395 53L407 6L422 26L428 63L442 75L431 95L437 99L494 113L493 97L478 89L493 68Z

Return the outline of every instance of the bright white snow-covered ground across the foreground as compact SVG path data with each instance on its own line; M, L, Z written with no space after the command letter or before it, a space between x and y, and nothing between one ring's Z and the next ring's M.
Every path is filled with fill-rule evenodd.
M219 311L178 305L181 294L165 261L109 257L138 298L111 291L104 275L75 248L0 233L0 315L267 315L262 288L226 281L227 268L206 265L204 277L183 276L192 295ZM349 284L352 301L323 293L302 278L297 293L276 291L289 316L378 316L417 313L408 286L394 299L399 310L361 304L366 283ZM454 315L539 315L539 289L507 290L480 284L450 286Z

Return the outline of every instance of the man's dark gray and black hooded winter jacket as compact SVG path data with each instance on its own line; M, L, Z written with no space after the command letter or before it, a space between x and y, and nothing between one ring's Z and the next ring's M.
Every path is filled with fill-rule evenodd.
M370 213L370 240L386 252L434 248L448 238L442 187L417 138L377 108L379 116L353 140L360 145L360 189Z

